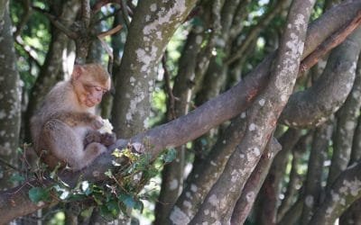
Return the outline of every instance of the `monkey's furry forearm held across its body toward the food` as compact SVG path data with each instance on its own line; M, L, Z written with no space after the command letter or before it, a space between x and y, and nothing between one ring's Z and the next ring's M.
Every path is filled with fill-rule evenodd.
M103 126L101 118L89 112L58 112L51 119L63 121L69 127L90 126L97 130Z

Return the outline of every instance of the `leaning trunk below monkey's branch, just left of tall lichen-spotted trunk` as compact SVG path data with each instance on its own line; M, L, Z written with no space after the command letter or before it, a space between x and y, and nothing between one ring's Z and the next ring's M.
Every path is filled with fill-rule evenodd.
M245 135L245 113L232 120L227 130L218 138L208 157L194 167L187 186L173 207L170 220L174 224L188 222L197 212L207 193L223 172L227 160ZM197 188L197 189L196 189ZM195 192L197 190L197 192Z

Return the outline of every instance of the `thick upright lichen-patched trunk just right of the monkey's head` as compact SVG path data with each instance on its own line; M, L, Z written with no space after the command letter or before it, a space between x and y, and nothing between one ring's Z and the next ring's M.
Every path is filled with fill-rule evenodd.
M118 137L147 128L150 94L162 53L196 1L141 1L137 5L116 76L112 123Z

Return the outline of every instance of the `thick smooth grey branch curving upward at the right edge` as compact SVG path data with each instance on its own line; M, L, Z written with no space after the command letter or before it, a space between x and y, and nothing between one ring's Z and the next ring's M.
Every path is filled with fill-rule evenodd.
M334 49L322 76L309 89L292 94L281 121L292 127L319 125L346 101L355 80L356 60L361 49L357 29Z

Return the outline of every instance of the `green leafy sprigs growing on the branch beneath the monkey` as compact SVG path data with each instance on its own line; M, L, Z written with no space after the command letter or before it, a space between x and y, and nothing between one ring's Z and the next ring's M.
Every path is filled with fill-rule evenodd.
M106 171L105 175L108 181L102 183L92 183L88 181L79 181L75 187L64 183L56 170L52 171L50 177L53 181L51 186L33 186L29 190L29 198L32 202L50 202L51 198L60 199L61 202L91 201L99 208L101 215L106 220L118 218L120 213L127 214L127 209L143 211L142 199L148 199L144 193L139 195L143 184L147 183L154 175L157 175L160 167L171 163L176 157L175 149L168 149L159 157L156 162L151 162L148 154L139 155L132 152L129 148L122 150L115 149L113 154L116 158L126 158L129 160L129 166L122 168L121 171ZM155 166L156 165L156 166ZM44 168L38 168L36 172L46 174ZM23 181L22 175L14 175L14 181Z

